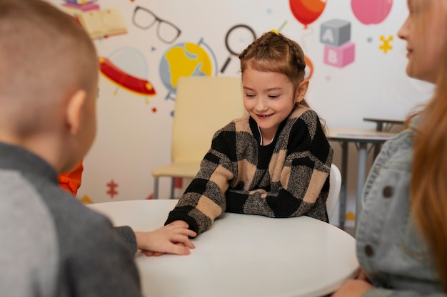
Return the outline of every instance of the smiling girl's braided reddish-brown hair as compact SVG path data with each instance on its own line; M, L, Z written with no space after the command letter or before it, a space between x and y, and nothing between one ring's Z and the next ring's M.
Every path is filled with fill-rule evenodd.
M242 74L248 66L257 71L283 73L295 88L298 88L306 73L306 62L301 47L275 31L263 33L239 55L239 59ZM305 99L300 104L309 107Z

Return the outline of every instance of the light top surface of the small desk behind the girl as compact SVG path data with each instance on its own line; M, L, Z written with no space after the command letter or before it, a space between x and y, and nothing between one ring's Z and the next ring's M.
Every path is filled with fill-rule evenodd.
M396 133L376 130L361 130L351 128L331 128L328 130L328 140L352 141L352 142L386 142Z

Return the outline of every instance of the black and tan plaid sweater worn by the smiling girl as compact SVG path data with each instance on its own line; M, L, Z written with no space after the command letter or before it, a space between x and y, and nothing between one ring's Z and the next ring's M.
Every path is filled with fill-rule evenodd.
M270 145L249 115L214 134L211 149L165 224L183 220L198 234L223 212L266 217L307 215L328 222L333 150L318 115L293 110Z

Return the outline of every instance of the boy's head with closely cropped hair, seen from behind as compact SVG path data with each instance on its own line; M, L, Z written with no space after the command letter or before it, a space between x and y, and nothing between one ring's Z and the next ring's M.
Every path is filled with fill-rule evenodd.
M71 170L96 134L98 62L70 16L41 0L0 0L0 141L57 172Z

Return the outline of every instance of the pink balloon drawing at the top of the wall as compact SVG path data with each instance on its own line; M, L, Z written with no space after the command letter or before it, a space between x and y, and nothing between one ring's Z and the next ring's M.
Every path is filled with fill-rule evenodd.
M393 0L351 0L351 9L361 23L380 24L391 11Z

